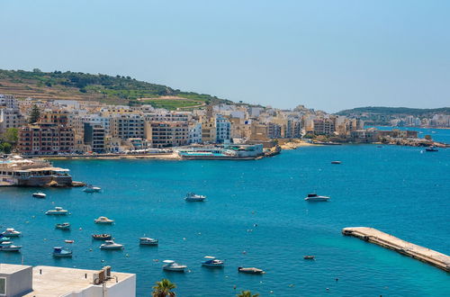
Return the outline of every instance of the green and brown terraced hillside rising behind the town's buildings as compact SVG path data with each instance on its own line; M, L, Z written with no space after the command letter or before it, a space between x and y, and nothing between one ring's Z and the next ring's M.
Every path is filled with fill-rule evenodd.
M209 94L183 92L166 85L136 80L130 76L92 75L82 72L41 72L0 69L0 94L18 99L67 99L111 104L143 104L167 109L189 109L205 103L231 103Z

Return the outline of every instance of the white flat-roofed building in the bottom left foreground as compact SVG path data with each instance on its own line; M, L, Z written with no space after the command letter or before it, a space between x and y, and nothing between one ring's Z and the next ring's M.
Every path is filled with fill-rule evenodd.
M0 264L3 297L124 297L136 296L136 275L54 266Z

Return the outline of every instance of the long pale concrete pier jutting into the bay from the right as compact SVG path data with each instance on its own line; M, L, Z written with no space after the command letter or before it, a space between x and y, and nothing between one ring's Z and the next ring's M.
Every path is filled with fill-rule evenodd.
M354 236L381 247L390 248L396 252L418 259L419 261L436 266L450 272L450 257L427 247L420 247L408 241L396 238L378 229L368 227L349 227L342 229L342 234Z

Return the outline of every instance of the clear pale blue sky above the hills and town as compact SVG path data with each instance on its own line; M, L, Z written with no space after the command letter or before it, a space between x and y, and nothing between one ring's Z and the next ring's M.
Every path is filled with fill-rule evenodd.
M280 108L450 105L450 1L0 0L0 68Z

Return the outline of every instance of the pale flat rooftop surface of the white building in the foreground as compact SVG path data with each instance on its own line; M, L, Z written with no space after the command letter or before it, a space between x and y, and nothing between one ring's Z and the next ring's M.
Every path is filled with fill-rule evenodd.
M40 274L40 270L42 274ZM55 266L34 266L32 268L32 288L33 291L24 295L24 297L56 297L64 296L67 293L85 290L94 285L94 274L98 270L65 268ZM87 275L87 278L85 278ZM133 274L124 274L111 272L112 279L104 284L106 288L111 288L116 284L115 276L118 283L133 277ZM100 284L100 286L102 286Z

